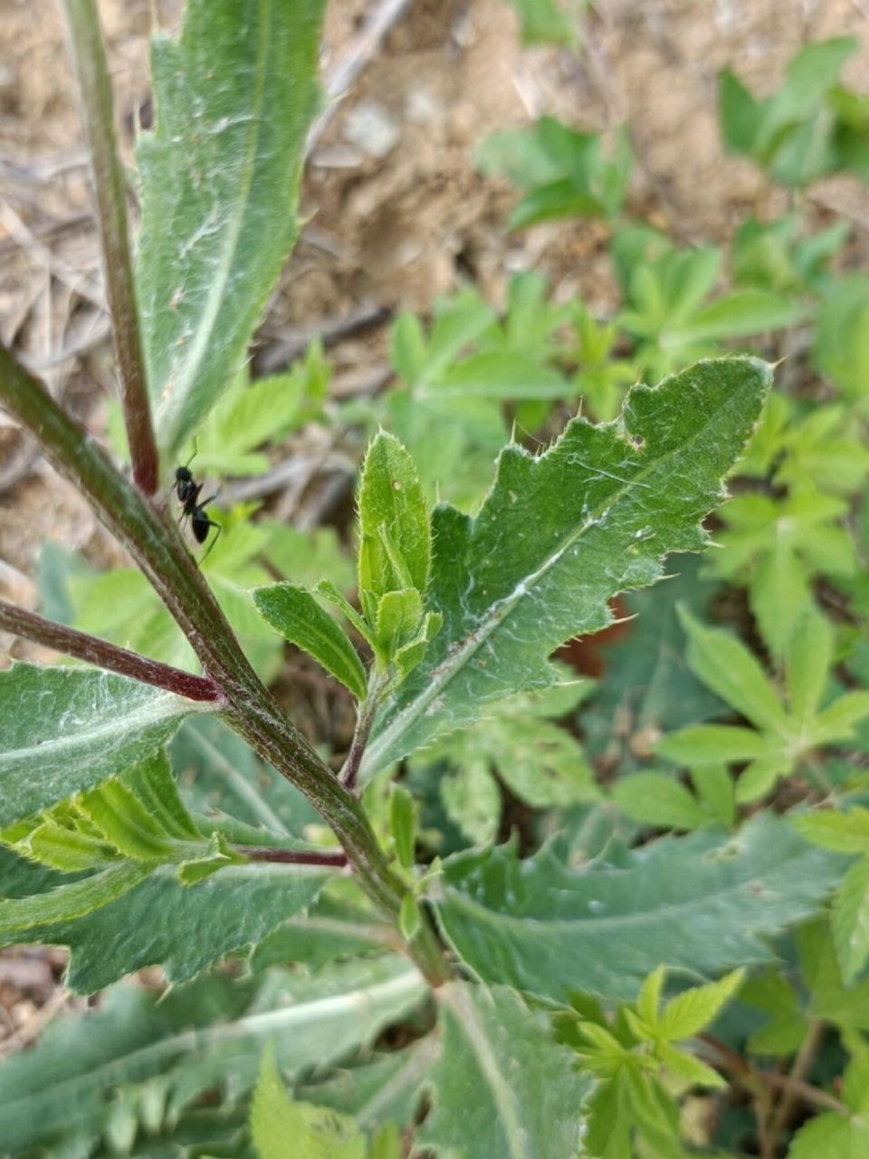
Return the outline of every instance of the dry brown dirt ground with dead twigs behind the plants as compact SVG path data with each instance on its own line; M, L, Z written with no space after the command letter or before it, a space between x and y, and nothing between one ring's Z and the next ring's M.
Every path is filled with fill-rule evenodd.
M371 7L371 0L329 5L327 70ZM101 0L100 9L129 159L132 126L147 112L152 13L171 28L178 3ZM723 241L748 209L783 206L750 166L721 152L717 70L730 64L768 92L802 43L852 32L864 44L848 79L864 87L868 21L867 0L598 0L585 52L574 56L521 50L505 0L411 0L314 151L304 188L312 217L263 341L364 302L426 311L436 293L469 277L497 301L509 275L526 268L547 274L558 296L580 292L606 309L613 290L601 226L580 221L506 235L501 223L511 194L475 174L476 143L543 111L583 129L627 122L637 153L634 211L685 241ZM355 116L371 102L390 118L396 138L382 159L366 155L353 132ZM115 371L82 158L60 6L0 0L0 335L98 433ZM821 218L835 211L854 220L856 256L867 256L864 191L830 181L813 202ZM378 328L334 349L336 389L380 373L385 333ZM73 342L83 352L60 358ZM104 564L121 559L86 505L0 414L1 596L35 606L34 568L46 539ZM38 655L0 635L0 666L3 647L9 655ZM54 986L61 967L56 952L2 955L0 1052L30 1041L63 1008Z

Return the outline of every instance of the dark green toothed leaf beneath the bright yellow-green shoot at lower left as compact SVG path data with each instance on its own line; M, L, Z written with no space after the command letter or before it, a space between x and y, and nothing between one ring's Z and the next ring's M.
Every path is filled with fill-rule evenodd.
M185 982L228 954L244 956L282 921L304 912L328 879L271 862L227 866L191 885L178 882L173 866L143 872L144 881L100 909L90 905L92 912L75 919L46 916L39 925L30 923L25 935L0 933L0 943L68 946L66 984L76 993L93 993L146 965L161 965L170 982Z

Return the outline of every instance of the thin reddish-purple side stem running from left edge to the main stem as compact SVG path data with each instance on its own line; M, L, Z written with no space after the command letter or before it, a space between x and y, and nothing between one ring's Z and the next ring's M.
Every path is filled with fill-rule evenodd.
M127 648L118 648L117 644L98 640L86 632L76 632L64 624L45 620L35 612L25 612L22 607L15 607L2 599L0 599L0 628L14 632L15 635L24 636L37 644L44 644L46 648L53 648L54 651L64 653L66 656L97 664L109 672L118 672L133 680L141 680L143 684L166 688L167 692L187 697L188 700L222 700L219 686L207 676L182 672L178 668L148 659Z

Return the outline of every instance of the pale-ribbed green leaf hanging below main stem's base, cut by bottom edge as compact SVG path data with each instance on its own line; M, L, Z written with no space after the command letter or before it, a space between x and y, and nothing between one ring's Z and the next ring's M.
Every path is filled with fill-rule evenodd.
M575 1154L591 1083L548 1019L503 987L453 982L437 998L440 1057L416 1143L452 1159Z

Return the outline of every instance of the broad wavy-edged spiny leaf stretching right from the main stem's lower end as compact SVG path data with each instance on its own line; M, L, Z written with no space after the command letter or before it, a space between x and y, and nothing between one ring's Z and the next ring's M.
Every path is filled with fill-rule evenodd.
M660 963L718 971L764 961L772 935L813 912L841 861L761 814L733 838L701 830L574 870L552 846L502 846L444 863L438 920L480 978L553 1003L568 991L631 999Z

